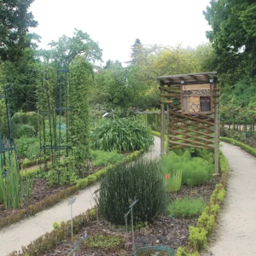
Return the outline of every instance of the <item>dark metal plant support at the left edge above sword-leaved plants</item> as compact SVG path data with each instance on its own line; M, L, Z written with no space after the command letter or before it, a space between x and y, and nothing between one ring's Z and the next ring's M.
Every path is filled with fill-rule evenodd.
M14 137L14 127L11 118L10 110L10 85L4 87L4 96L0 96L0 100L4 100L6 107L6 119L7 119L7 131L6 137L3 136L3 132L0 130L0 162L1 162L1 172L5 175L8 174L8 166L11 166L11 155L15 155L15 167L19 172L19 166L17 161L16 147L15 147L15 137Z

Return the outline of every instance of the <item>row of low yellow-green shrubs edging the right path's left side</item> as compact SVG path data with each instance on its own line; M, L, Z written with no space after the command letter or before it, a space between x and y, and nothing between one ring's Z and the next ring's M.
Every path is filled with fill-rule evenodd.
M216 224L221 204L224 202L225 187L228 181L229 164L220 151L219 166L222 172L220 183L212 192L209 205L201 213L196 226L189 227L189 241L186 247L178 247L177 256L199 256L199 251L207 246L208 238Z

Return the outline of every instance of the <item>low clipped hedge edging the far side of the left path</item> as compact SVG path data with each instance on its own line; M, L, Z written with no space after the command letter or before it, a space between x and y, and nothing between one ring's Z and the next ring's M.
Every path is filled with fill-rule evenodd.
M55 195L50 195L47 198L45 198L42 201L38 201L36 204L31 205L27 207L26 209L20 210L19 214L14 214L14 215L9 215L8 217L5 218L0 218L0 230L3 229L3 227L8 226L9 224L15 224L19 222L21 219L28 218L32 215L35 215L38 212L41 212L45 210L48 207L54 206L56 203L60 202L61 200L67 198L70 195L75 194L76 192L79 191L79 189L86 189L89 187L91 184L96 183L97 181L102 178L102 176L108 172L109 169L113 168L113 166L118 166L123 163L128 163L132 160L135 160L137 157L143 154L143 149L139 151L134 151L131 154L128 154L125 156L125 159L120 160L117 162L115 165L110 165L107 167L102 168L98 172L94 174L90 174L88 177L78 179L74 181L74 184L72 187L69 187L67 189L62 189L61 192L55 194ZM21 176L24 177L25 179L27 177L35 177L38 174L38 169L28 171L28 172L21 172Z

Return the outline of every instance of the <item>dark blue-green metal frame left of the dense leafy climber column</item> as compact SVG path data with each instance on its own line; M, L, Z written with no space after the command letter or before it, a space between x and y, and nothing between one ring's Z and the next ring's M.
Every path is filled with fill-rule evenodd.
M53 97L55 95L55 97ZM40 149L44 153L44 171L48 172L48 151L53 168L58 171L58 183L61 177L61 160L73 155L72 143L68 135L70 122L71 95L70 73L67 65L59 63L57 83L50 86L49 73L42 73L41 88L38 94L39 140ZM65 123L63 125L62 123ZM49 131L49 134L47 134ZM48 138L47 138L48 137ZM66 137L64 139L63 137ZM73 172L73 165L69 167Z

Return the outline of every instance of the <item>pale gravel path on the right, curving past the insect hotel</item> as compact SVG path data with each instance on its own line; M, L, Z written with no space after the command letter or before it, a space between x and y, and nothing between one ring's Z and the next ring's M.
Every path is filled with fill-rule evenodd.
M256 255L256 158L223 143L230 177L224 207L207 252L201 256Z

